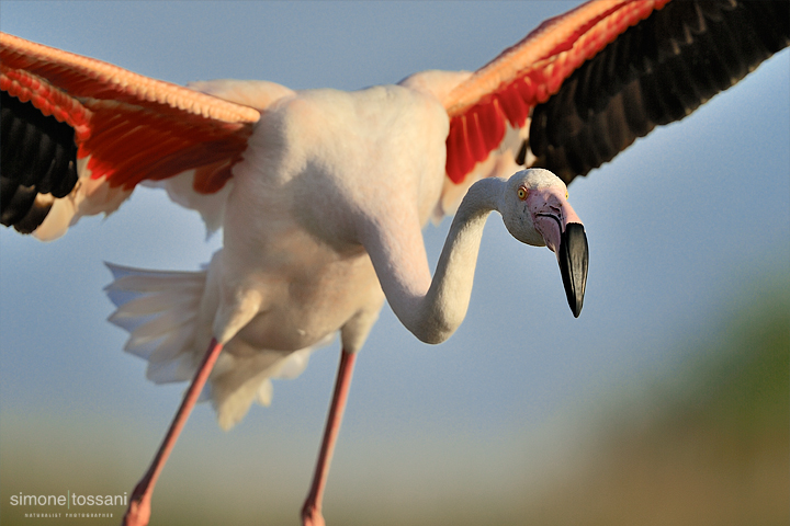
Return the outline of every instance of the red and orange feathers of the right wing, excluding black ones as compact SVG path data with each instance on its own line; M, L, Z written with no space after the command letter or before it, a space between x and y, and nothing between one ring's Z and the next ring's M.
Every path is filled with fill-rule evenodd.
M461 184L503 140L506 123L522 127L531 108L556 93L585 60L668 1L586 3L544 22L450 92L443 101L450 115L450 180ZM470 133L471 121L485 123L484 134Z

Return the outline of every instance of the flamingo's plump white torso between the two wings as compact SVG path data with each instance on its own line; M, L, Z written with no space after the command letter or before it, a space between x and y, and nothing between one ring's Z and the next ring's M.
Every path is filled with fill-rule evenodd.
M424 247L420 227L441 190L445 135L441 105L404 88L282 100L235 167L200 324L227 341L229 355L298 351L339 330L343 348L359 350L384 301L360 226L394 226L411 237L408 250ZM404 151L399 141L414 145L408 156L395 155ZM343 144L359 146L338 148ZM437 162L426 165L426 158ZM420 255L430 283L425 249ZM211 333L195 342L195 362Z

